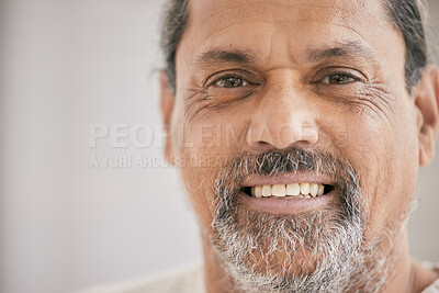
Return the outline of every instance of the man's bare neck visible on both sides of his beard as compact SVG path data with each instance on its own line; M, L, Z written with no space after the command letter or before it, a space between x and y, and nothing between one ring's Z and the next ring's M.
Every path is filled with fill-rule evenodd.
M202 240L207 292L236 292L232 290L233 279L227 274L209 237L204 233L202 234ZM406 230L394 243L394 252L390 261L392 261L391 268L393 269L390 271L383 293L421 292L439 278L438 272L427 270L410 259Z

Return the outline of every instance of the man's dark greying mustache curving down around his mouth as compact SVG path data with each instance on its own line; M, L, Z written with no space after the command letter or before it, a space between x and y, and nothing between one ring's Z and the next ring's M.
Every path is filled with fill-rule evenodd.
M307 150L291 147L282 150L267 150L261 154L241 153L223 168L215 182L215 200L223 201L222 211L226 214L235 205L236 192L249 176L280 176L292 172L309 172L327 176L338 190L348 217L360 216L362 201L359 176L350 162L339 156L322 150ZM363 215L367 216L367 215Z

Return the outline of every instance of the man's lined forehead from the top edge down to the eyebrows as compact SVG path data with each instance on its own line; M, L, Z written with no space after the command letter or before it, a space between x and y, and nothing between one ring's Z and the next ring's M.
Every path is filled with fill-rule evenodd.
M390 58L389 43L404 48L381 0L191 0L177 67L212 49L238 48L273 65L340 43L362 43Z

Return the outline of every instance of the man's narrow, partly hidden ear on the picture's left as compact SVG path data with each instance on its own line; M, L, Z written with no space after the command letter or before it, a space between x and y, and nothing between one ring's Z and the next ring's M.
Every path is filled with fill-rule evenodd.
M172 125L171 117L175 106L173 90L169 87L168 77L165 71L160 72L160 110L162 124L166 132L165 140L165 158L170 165L175 165L175 156L172 156Z

